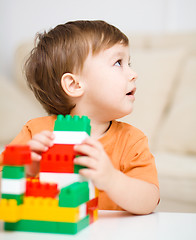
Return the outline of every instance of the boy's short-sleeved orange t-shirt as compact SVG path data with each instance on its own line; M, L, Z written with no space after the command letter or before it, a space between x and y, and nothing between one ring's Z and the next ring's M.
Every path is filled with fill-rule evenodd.
M56 116L30 120L10 144L26 144L33 135L43 130L53 131L55 120ZM112 121L109 130L99 141L116 169L129 177L159 187L155 160L149 150L148 139L139 129L123 122ZM122 210L104 191L99 193L99 209Z

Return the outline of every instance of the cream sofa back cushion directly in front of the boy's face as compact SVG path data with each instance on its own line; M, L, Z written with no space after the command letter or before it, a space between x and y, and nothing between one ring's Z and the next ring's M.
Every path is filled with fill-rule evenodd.
M185 55L182 48L131 51L132 68L139 76L136 101L133 113L121 120L140 128L151 146Z

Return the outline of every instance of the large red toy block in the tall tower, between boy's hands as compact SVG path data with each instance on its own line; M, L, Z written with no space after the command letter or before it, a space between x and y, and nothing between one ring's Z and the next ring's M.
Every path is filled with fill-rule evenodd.
M40 172L73 173L75 151L73 144L54 144L42 154Z

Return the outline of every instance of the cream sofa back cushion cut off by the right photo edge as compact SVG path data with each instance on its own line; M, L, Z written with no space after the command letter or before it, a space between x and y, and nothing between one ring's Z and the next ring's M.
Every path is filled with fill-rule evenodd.
M181 70L173 104L157 136L157 149L196 154L196 54Z

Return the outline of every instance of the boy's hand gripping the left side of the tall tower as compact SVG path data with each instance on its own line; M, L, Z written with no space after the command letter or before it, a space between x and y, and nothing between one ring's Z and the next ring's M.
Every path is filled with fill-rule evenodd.
M39 172L39 162L42 158L42 153L46 152L49 147L52 147L54 134L50 131L43 131L32 137L27 143L31 149L32 164L27 165L27 175L35 176Z

